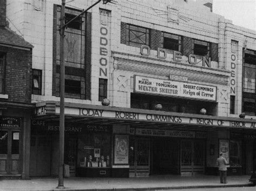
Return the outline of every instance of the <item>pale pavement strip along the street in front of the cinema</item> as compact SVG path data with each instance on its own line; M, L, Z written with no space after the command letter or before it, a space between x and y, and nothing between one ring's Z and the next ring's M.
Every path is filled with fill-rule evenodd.
M133 178L64 178L64 189L56 189L58 178L31 178L30 180L0 179L0 190L164 190L188 188L248 187L249 175L227 176L227 183L211 175L157 175Z

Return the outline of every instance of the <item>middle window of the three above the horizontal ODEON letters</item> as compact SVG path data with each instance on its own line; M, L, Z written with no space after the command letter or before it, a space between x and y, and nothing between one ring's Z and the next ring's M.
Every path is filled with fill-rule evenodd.
M164 49L181 51L181 36L162 32L161 41Z

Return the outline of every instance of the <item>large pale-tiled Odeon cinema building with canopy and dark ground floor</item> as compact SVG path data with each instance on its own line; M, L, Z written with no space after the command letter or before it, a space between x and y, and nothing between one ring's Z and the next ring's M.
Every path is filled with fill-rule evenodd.
M33 46L30 176L57 175L60 1L8 1ZM69 21L91 5L66 4ZM255 145L255 31L212 1L117 1L65 31L65 154L71 176L250 174ZM22 7L23 9L20 9ZM106 99L107 98L107 99Z

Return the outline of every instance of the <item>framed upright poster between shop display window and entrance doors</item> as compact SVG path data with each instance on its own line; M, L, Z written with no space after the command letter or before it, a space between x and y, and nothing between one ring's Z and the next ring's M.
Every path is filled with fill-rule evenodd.
M128 164L129 135L116 135L114 138L114 163Z

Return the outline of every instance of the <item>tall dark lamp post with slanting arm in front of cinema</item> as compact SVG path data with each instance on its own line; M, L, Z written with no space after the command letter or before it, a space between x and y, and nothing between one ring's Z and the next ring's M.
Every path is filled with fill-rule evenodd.
M97 5L102 0L98 0L96 3L92 4L86 10L83 10L79 15L72 18L70 21L65 23L65 4L66 1L62 0L62 10L60 12L60 111L59 111L59 169L58 169L58 189L64 189L64 179L63 179L63 169L64 169L64 129L65 129L65 46L64 46L64 39L65 39L65 28L68 26L69 23L74 21L76 18L80 17L91 9L93 6ZM103 0L103 4L112 3L111 0Z

